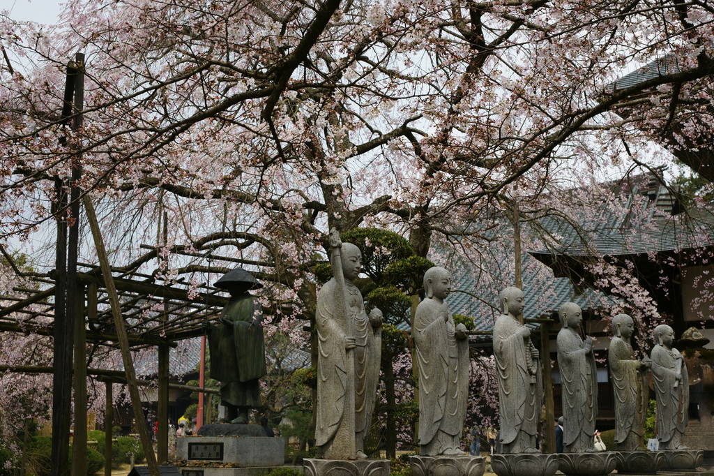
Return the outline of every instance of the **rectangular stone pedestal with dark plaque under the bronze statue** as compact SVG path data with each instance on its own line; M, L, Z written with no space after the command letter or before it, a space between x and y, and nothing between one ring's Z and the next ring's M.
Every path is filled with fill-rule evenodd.
M231 463L238 467L282 466L285 439L273 437L178 437L176 457L187 462Z

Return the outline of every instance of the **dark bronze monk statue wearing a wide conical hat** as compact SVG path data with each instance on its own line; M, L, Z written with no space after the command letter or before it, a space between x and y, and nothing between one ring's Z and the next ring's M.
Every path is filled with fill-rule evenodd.
M216 324L208 329L211 377L221 382L226 422L247 423L248 411L261 407L258 379L266 375L263 314L248 291L261 286L237 268L218 279L216 287L231 293Z

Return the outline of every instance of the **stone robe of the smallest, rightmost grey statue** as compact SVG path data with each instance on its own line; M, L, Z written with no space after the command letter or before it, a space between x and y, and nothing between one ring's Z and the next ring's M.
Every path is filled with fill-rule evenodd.
M650 352L652 380L657 397L657 439L660 450L677 450L687 427L689 407L689 377L682 354L677 349L655 345ZM682 369L682 380L675 388L675 375Z

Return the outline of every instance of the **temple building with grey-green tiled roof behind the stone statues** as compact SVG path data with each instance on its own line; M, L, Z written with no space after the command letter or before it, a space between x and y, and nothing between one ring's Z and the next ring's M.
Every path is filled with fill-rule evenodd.
M548 217L541 224L557 234L558 244L543 249L523 250L523 291L526 309L523 317L535 321L550 317L550 358L555 415L560 410L560 375L555 357L555 334L560 324L557 309L573 301L583 309L585 334L597 337L598 359L598 430L614 427L613 390L610 386L606 355L610 341L608 329L611 307L628 300L611 284L599 279L595 264L607 263L625 281L636 280L651 297L656 315L648 327L659 321L670 324L679 339L690 327L698 329L697 338L675 342L675 347L688 349L690 368L690 407L685 444L714 450L714 213L711 208L685 209L674 187L655 174L632 177L618 182L628 212L603 212L599 224L588 224L588 232L578 224ZM637 210L635 210L637 208ZM636 212L636 213L635 213ZM646 225L633 217L649 214ZM496 295L483 295L483 286L473 279L472 269L463 267L456 273L458 289L471 289L483 300L496 302ZM488 294L488 291L486 291ZM493 293L492 293L493 294ZM472 341L472 347L491 347L488 332L492 320L483 318L493 313L483 302L464 293L449 297L452 312L475 317L483 335ZM637 303L630 302L636 306ZM537 322L531 325L538 326ZM650 336L643 336L650 341ZM537 339L536 339L537 340ZM636 341L637 339L635 339ZM643 341L644 342L644 341ZM648 353L649 348L639 349ZM653 394L650 395L654 399Z

